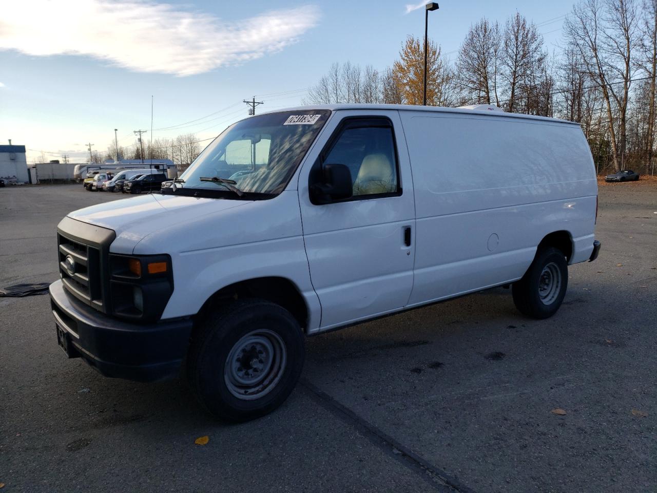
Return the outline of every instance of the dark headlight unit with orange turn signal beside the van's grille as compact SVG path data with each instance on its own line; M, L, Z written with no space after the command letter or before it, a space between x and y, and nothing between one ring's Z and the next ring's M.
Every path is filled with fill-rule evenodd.
M173 293L169 255L110 254L112 313L118 317L156 321Z

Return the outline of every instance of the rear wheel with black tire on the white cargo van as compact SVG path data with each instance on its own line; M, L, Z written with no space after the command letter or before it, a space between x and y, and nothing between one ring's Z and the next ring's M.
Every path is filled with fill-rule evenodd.
M544 319L559 309L568 289L568 264L561 250L539 248L532 265L513 283L513 302L528 317Z

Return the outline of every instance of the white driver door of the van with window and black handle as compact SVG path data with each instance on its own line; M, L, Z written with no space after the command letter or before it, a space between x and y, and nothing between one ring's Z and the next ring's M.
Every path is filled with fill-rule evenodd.
M300 173L298 193L321 329L403 308L413 288L415 204L408 153L394 110L336 112ZM322 142L321 141L321 142ZM319 143L318 143L319 144ZM313 204L324 164L350 168L353 197Z

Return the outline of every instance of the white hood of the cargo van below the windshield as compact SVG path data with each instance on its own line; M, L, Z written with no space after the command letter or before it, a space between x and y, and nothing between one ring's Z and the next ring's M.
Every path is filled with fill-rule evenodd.
M155 231L251 202L148 194L85 207L70 212L68 217L113 229L116 240L112 251L129 254L139 241Z

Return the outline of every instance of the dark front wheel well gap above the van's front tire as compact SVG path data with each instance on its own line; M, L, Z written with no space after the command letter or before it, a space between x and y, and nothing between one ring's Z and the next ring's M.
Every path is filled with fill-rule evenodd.
M198 313L204 314L239 298L260 298L276 303L288 310L304 331L308 326L306 301L296 285L284 277L258 277L223 287L208 298Z

